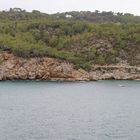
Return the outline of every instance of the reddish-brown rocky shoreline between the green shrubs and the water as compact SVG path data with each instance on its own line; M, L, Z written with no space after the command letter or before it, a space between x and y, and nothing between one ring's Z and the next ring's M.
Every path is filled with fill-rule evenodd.
M128 64L94 65L90 72L74 69L73 64L54 58L23 59L0 53L0 81L4 80L140 80L140 66Z

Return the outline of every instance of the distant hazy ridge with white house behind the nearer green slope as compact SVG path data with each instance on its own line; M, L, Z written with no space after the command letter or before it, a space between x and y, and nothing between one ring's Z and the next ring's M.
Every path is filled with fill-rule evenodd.
M56 13L52 16L60 19L67 19L67 17L71 17L74 20L84 20L93 23L140 23L140 16L135 16L131 13L114 13L112 11L71 11L64 13Z

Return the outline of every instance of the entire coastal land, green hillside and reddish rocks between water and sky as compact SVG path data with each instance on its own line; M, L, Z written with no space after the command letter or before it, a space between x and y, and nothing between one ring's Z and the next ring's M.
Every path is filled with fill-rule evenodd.
M0 12L0 81L140 80L140 16Z

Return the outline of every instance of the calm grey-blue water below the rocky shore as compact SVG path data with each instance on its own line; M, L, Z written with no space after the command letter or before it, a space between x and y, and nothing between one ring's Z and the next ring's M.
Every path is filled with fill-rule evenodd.
M140 82L0 82L0 140L139 140Z

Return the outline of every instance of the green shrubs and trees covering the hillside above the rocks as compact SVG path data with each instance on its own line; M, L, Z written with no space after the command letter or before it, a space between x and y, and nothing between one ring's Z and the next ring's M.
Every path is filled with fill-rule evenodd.
M98 11L48 15L10 9L0 12L0 49L26 58L64 59L85 69L121 60L138 65L140 17Z

